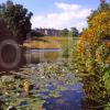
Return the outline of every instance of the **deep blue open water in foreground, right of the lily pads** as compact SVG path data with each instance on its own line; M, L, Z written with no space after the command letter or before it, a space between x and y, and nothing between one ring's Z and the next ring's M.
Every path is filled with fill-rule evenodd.
M67 90L61 91L59 97L46 98L43 108L46 110L81 110L82 97L82 85L76 84L74 87L68 86Z

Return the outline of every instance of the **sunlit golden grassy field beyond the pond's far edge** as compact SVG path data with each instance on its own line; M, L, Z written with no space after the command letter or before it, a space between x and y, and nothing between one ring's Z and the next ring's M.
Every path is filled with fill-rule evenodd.
M75 37L74 40L76 41L77 38ZM24 43L24 46L28 48L63 48L72 44L74 40L66 36L44 36L29 40Z

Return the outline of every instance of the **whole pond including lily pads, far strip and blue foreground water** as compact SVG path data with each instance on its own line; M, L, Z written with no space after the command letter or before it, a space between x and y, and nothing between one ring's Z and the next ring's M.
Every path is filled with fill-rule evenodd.
M61 52L61 48L28 50L23 57L28 59L26 67L23 64L24 67L19 72L12 72L14 81L8 81L10 76L0 79L1 110L2 107L3 110L9 107L16 110L82 110L82 84L73 73L70 74L65 59L58 61ZM33 86L28 92L25 80Z

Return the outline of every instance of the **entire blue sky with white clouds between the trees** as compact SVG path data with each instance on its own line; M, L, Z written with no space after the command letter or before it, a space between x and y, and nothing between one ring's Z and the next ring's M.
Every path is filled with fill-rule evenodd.
M7 0L0 0L0 3ZM100 0L12 0L33 12L32 28L87 28L87 16ZM110 0L107 0L110 2Z

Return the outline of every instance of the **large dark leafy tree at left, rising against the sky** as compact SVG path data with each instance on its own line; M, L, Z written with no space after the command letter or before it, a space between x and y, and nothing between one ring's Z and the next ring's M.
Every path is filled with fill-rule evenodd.
M26 40L26 34L31 31L32 15L32 12L29 12L22 4L13 4L10 0L1 6L1 16L19 44Z

